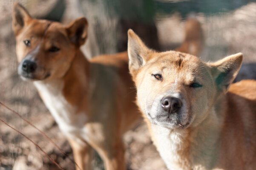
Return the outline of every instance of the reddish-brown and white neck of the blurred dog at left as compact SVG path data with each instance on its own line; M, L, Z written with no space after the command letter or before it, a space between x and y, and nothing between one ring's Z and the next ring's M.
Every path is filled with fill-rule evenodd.
M88 75L90 63L81 50L75 52L75 57L63 77L36 81L34 84L42 98L43 94L49 93L52 96L61 95L70 105L77 107L77 110L86 108L84 102L88 91ZM42 92L42 89L44 92ZM83 102L83 103L82 103Z

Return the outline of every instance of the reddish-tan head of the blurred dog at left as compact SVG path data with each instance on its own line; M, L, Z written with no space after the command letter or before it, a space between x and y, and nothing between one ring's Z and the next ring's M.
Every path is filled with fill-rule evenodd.
M15 3L12 28L20 62L18 74L32 80L62 77L86 40L87 26L85 18L79 18L68 26L37 20L23 6Z

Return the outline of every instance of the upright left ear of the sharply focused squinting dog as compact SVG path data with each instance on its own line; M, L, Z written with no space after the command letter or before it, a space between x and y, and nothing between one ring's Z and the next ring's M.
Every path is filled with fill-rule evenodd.
M148 58L150 49L142 42L140 37L131 29L128 31L128 56L131 74L143 66Z

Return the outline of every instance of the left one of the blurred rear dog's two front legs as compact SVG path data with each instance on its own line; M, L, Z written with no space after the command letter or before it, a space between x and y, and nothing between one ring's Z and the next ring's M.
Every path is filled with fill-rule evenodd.
M87 143L78 143L73 139L68 139L72 147L76 170L92 170L92 147Z

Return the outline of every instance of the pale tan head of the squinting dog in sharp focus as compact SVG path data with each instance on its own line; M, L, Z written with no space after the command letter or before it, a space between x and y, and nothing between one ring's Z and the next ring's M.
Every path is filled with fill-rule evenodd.
M202 122L216 99L227 92L242 63L242 54L205 63L176 51L155 52L128 31L129 70L137 104L152 124L170 129Z

